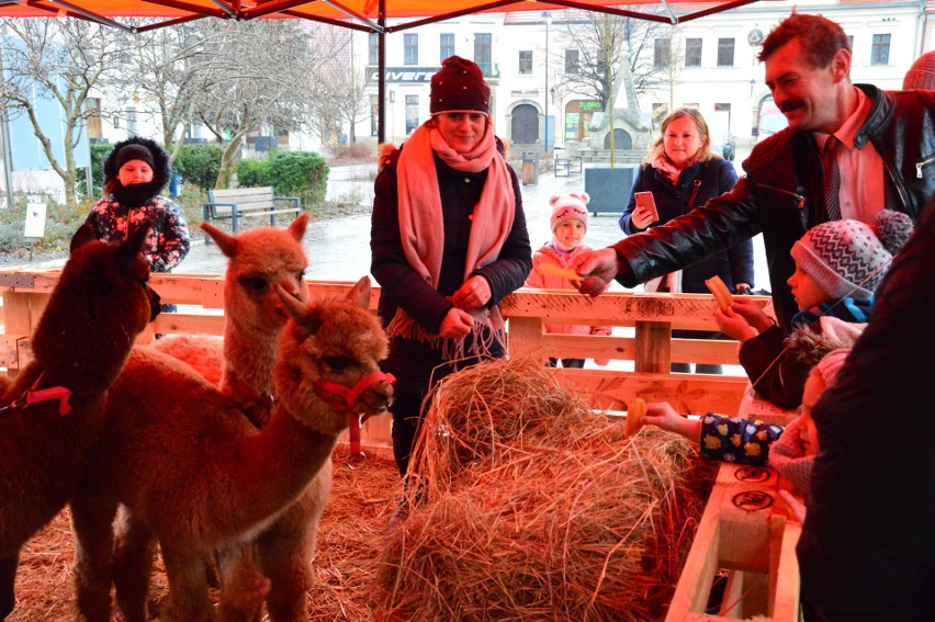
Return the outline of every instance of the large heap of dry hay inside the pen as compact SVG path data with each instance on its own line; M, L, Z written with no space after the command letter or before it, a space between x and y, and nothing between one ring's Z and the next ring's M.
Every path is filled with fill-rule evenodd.
M432 394L374 609L394 619L661 620L710 489L681 438L592 412L537 362ZM708 484L707 486L705 484Z

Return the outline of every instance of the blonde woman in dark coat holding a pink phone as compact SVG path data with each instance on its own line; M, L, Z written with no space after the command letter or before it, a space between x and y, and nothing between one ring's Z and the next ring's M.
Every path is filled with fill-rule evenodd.
M734 188L737 173L734 166L711 152L708 124L697 110L680 108L669 113L661 126L660 136L650 147L645 163L637 172L630 202L620 216L620 228L627 235L644 231L656 225L689 213L709 199ZM653 203L638 201L651 192ZM652 206L655 206L655 212ZM737 293L748 293L753 284L753 242L744 240L725 251L681 270L680 280L665 279L668 285L646 285L647 290L707 293L705 280L718 275ZM673 275L668 275L673 276ZM680 283L679 283L680 281ZM673 337L717 339L720 333L702 330L674 330ZM674 372L690 372L689 363L673 363ZM698 373L721 373L720 365L698 364Z

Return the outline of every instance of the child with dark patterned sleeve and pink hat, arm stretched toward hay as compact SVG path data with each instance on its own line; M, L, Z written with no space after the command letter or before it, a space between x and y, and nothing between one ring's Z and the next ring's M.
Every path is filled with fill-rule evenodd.
M676 432L698 443L701 455L708 460L761 466L768 464L808 501L811 467L819 451L811 409L834 383L849 352L848 349L833 350L810 370L798 416L785 428L713 412L703 417L683 417L667 402L647 404L642 423Z

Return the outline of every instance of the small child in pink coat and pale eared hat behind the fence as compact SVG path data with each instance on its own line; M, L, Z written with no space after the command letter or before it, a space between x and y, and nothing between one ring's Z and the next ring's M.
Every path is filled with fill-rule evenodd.
M562 271L571 270L572 259L583 252L590 251L584 242L587 233L587 203L590 201L587 192L556 194L549 200L552 205L552 216L549 224L552 227L552 240L532 256L532 271L526 280L527 287L542 290L575 290L568 274ZM562 335L610 335L609 326L586 326L582 324L547 324L545 332ZM583 367L584 359L561 359L563 367ZM607 361L597 361L607 364ZM550 366L557 366L559 359L550 358Z

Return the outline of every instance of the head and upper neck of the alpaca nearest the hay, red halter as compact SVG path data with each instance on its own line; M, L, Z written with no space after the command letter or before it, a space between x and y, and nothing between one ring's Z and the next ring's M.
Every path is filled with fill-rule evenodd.
M304 304L280 292L292 316L280 339L275 386L280 403L309 428L327 434L348 426L347 409L323 402L315 384L327 381L346 388L380 371L388 354L386 332L370 310L370 279L364 276L342 299ZM352 406L357 414L379 415L392 404L393 386L370 385Z

